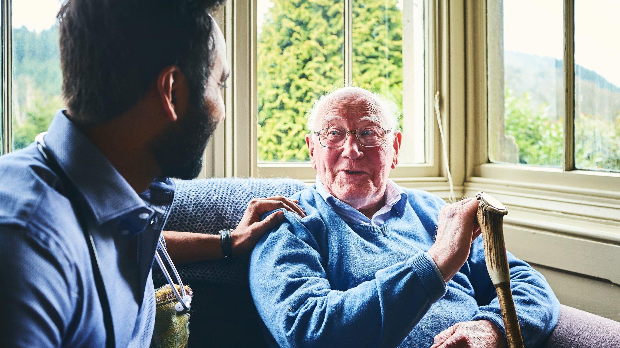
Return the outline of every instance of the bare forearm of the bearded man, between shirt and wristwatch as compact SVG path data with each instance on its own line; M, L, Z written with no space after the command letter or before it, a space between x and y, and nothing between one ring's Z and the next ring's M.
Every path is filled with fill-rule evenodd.
M195 263L223 258L219 235L162 231L174 263Z

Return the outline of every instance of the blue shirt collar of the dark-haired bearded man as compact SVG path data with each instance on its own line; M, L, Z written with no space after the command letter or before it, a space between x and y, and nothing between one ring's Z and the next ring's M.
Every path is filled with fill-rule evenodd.
M146 206L116 168L64 115L64 110L56 112L51 121L45 145L82 193L97 225L117 220L124 235L143 230L153 209Z

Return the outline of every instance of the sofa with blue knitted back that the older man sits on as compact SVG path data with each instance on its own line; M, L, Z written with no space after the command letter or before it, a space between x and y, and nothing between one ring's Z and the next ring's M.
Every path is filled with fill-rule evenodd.
M293 179L214 178L178 180L164 230L218 233L236 227L252 198L291 194L305 188ZM252 303L248 256L177 265L182 280L192 287L189 348L267 347L260 318ZM156 287L166 284L153 268ZM562 305L560 319L545 348L618 348L620 323Z

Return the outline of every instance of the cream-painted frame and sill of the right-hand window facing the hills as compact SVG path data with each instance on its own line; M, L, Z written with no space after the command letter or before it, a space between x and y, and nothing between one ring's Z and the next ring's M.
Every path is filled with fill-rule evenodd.
M467 161L464 183L469 196L479 189L497 194L502 202L549 214L616 220L620 216L620 173L578 170L573 153L574 120L574 1L564 0L565 100L564 161L561 168L536 167L489 161L489 104L487 64L487 1L467 2ZM498 0L502 1L502 0ZM569 155L567 155L569 154ZM537 190L537 194L523 190ZM527 198L528 200L524 200ZM569 200L570 202L560 201ZM566 204L564 204L566 203ZM606 214L601 214L601 209ZM569 220L567 220L569 221Z

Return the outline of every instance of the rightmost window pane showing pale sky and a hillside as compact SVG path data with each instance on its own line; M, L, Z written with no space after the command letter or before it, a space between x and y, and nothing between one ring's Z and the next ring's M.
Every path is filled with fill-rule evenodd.
M575 167L620 171L620 2L575 1Z

